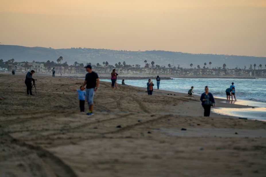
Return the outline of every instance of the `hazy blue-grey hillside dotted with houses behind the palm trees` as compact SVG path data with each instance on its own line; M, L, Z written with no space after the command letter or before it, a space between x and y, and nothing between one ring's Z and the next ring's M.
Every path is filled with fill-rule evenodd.
M266 57L254 57L254 56L235 56L235 55L216 55L216 54L190 54L182 52L170 52L162 50L153 51L123 51L123 50L107 50L107 49L92 49L92 48L69 48L69 49L52 49L44 47L24 47L24 46L11 46L0 45L0 59L9 60L14 58L15 61L56 61L59 56L63 56L63 62L67 61L68 64L73 64L75 61L79 63L92 64L108 61L109 64L125 61L127 64L141 64L144 66L144 60L147 63L152 61L159 65L167 66L169 63L181 67L190 68L190 64L193 64L193 68L200 65L203 67L203 63L206 62L211 67L222 67L225 63L228 68L238 67L242 68L250 64L262 64L263 67L266 64ZM206 66L206 67L207 67Z

